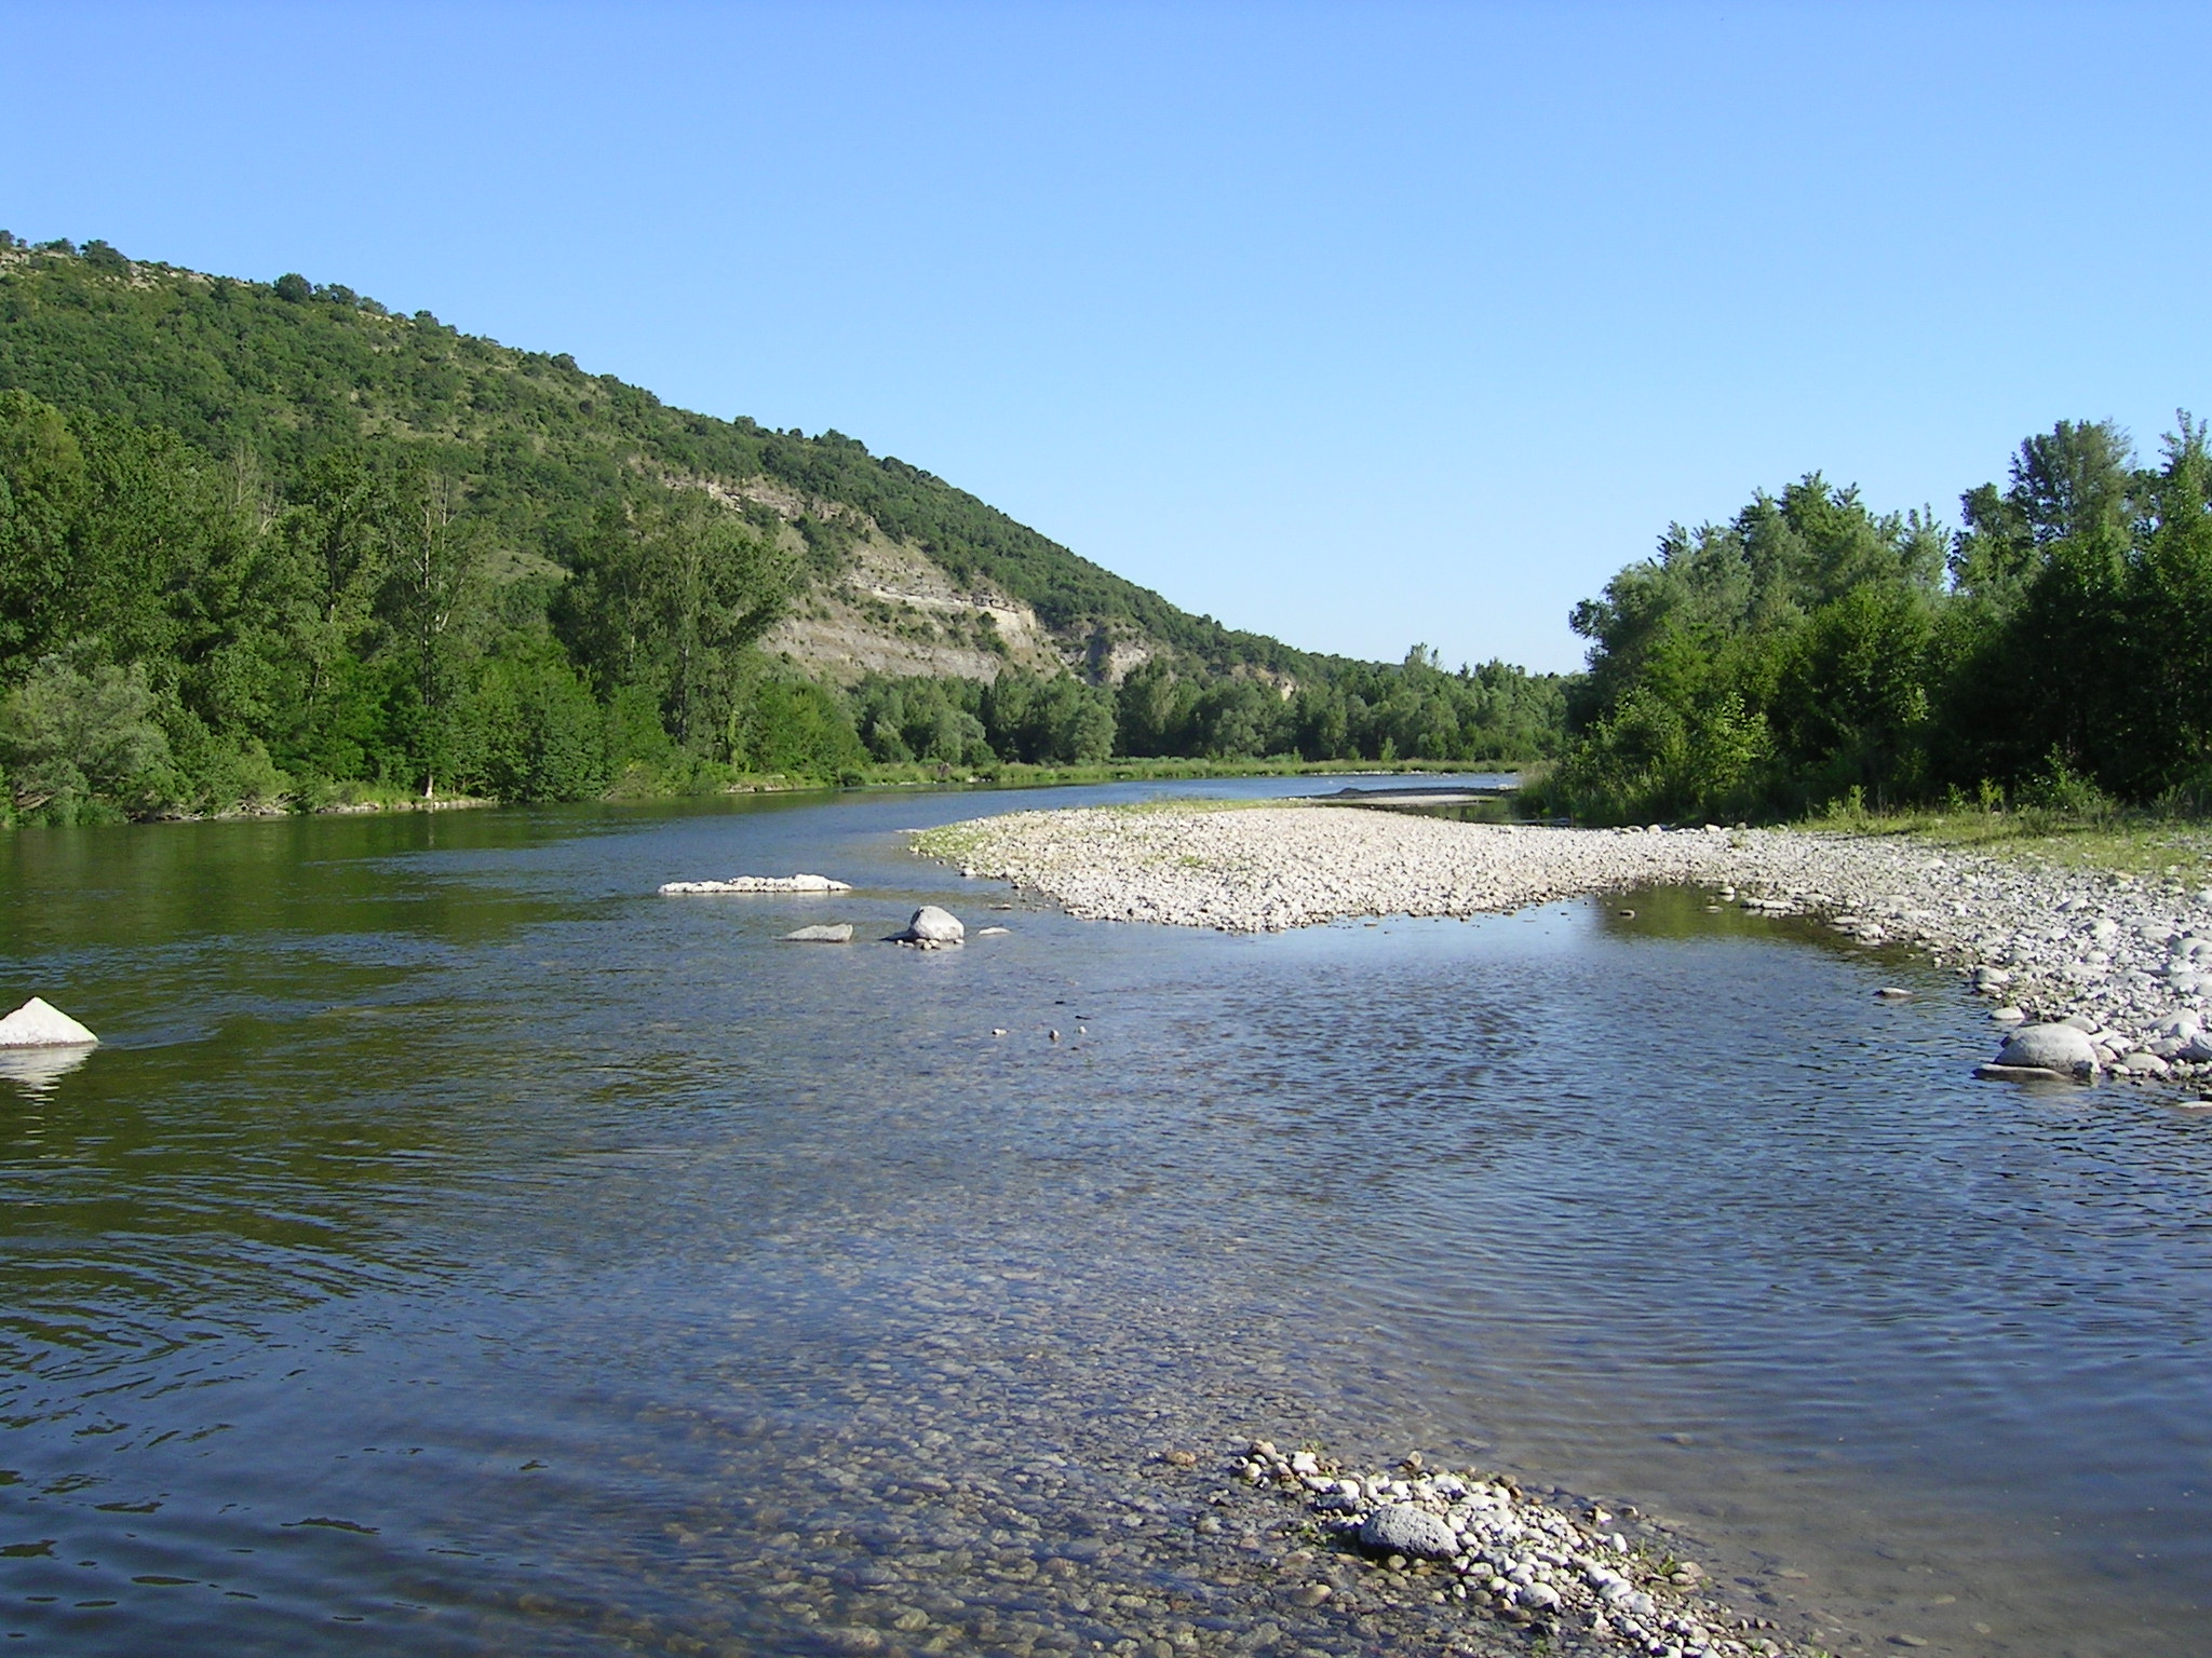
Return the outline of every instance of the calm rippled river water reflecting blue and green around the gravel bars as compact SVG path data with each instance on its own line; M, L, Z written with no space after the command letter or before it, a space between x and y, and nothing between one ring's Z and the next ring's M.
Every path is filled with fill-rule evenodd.
M1836 1649L2212 1651L2212 1123L1699 893L1230 937L898 833L1137 794L0 838L0 995L106 1039L0 1072L0 1629L1391 1649L1192 1530L1265 1435L1668 1514ZM655 895L792 869L856 891Z

